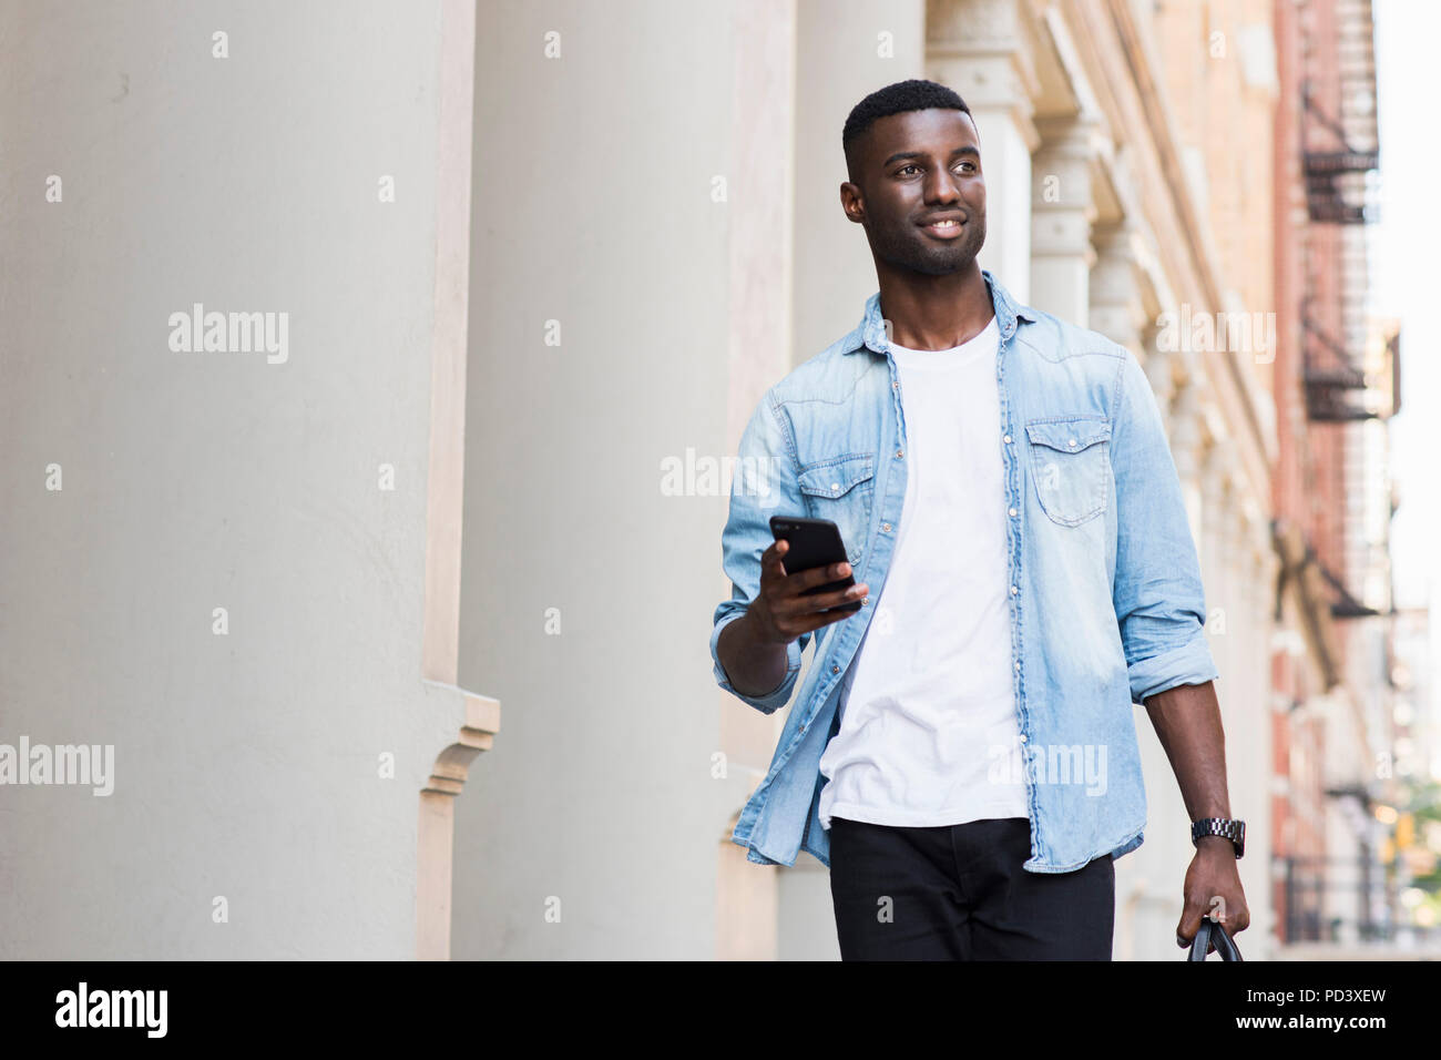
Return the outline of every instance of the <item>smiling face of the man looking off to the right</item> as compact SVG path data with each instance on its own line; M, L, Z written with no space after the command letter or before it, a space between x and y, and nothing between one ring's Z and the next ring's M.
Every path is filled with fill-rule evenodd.
M857 146L857 183L842 185L842 203L865 225L876 258L928 275L968 268L986 242L986 179L971 117L944 108L892 114Z

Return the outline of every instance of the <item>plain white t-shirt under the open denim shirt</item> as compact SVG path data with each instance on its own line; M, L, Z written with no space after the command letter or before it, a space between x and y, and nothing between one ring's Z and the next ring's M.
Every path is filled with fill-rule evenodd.
M1027 816L1012 686L1006 485L991 317L945 350L892 343L906 495L875 614L820 759L820 819Z

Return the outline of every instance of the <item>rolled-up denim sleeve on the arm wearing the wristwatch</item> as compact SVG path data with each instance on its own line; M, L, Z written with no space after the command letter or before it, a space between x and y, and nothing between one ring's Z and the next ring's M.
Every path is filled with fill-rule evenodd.
M1131 702L1219 678L1206 639L1200 561L1160 407L1124 346L1111 428L1115 476L1112 601Z

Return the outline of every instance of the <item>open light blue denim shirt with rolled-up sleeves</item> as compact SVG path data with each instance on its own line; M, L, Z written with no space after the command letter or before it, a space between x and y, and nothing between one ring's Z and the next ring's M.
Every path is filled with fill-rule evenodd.
M1176 463L1140 363L1097 332L1017 304L990 271L983 275L1000 327L996 444L1006 480L1016 759L1030 816L1025 868L1069 873L1144 838L1133 704L1219 675ZM741 437L722 534L732 593L710 633L715 679L771 714L790 702L801 652L817 637L771 767L731 836L762 865L793 865L803 849L830 865L820 757L840 731L842 678L895 552L906 489L902 410L878 291L850 335L765 392ZM870 593L850 619L791 642L780 688L749 697L731 685L716 642L759 590L772 515L834 521Z

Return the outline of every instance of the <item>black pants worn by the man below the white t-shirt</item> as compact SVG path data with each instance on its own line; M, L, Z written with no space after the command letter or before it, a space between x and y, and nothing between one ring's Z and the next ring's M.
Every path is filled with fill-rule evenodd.
M1026 818L893 828L831 818L842 960L1110 960L1115 867L1027 873Z

